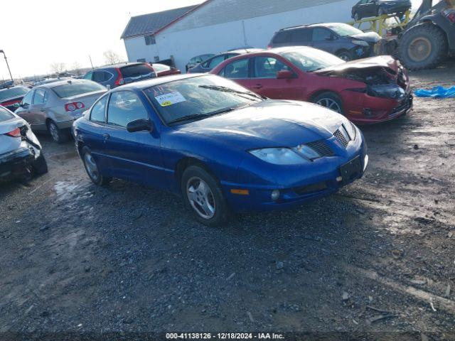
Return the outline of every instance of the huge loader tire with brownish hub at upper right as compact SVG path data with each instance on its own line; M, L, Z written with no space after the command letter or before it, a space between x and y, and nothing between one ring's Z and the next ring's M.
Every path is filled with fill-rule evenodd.
M433 23L422 23L405 31L398 43L398 56L410 70L432 69L447 56L447 40Z

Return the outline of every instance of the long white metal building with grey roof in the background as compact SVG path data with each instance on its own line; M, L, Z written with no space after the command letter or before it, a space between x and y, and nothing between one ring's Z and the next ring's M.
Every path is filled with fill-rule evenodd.
M204 53L250 46L266 48L280 28L347 22L356 0L207 0L203 4L133 17L122 38L129 61L173 58L185 70ZM142 29L132 29L138 21ZM139 25L140 26L140 25Z

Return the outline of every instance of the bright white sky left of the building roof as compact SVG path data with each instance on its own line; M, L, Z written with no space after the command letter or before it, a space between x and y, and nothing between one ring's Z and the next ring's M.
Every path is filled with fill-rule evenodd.
M120 39L131 16L199 4L202 0L2 0L0 50L14 78L51 72L52 63L72 69L105 64L113 50L127 59ZM9 79L0 54L0 80Z

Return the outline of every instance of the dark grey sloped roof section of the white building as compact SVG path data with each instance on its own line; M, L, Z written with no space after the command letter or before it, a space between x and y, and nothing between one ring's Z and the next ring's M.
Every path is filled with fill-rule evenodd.
M153 34L195 7L196 6L186 6L181 7L180 9L169 9L168 11L132 16L120 38L124 39L134 36L144 36L145 34Z

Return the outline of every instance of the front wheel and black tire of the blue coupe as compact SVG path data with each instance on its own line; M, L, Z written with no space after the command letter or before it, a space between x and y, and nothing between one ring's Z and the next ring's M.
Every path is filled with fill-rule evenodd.
M218 181L205 169L189 166L181 178L183 201L201 224L217 227L228 222L229 208Z

